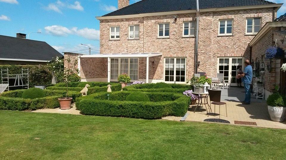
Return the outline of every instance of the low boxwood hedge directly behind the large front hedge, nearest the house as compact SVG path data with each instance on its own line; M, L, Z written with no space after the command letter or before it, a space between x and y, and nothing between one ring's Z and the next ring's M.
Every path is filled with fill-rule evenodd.
M124 91L140 91L140 92L174 92L183 93L186 90L193 89L192 86L186 84L167 84L167 83L150 83L150 84L135 84L124 87Z

